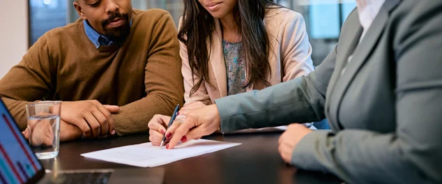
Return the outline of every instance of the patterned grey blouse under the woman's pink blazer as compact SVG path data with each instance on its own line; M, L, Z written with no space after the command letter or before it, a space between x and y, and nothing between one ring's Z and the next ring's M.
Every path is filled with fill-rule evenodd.
M246 91L245 61L241 56L241 42L229 43L222 40L224 63L227 72L227 95L234 95Z

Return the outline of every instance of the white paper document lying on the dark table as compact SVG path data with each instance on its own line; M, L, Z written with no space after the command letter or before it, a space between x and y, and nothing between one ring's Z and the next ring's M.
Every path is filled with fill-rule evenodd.
M137 167L156 167L238 145L240 144L199 139L180 143L175 146L175 148L168 150L165 146L160 148L160 146L152 146L152 144L148 142L83 153L82 156L107 162L130 164Z

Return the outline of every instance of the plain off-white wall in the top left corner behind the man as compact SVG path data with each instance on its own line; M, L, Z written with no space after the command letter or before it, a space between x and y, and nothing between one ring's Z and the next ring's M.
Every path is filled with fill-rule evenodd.
M28 50L28 1L0 0L0 78Z

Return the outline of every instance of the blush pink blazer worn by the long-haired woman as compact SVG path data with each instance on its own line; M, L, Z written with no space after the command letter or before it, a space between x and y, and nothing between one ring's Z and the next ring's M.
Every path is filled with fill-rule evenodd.
M181 27L182 19L179 22L178 30ZM270 41L270 52L268 61L270 63L271 76L267 81L271 85L306 75L312 70L312 47L305 31L305 21L302 15L287 8L268 9L264 17L264 25ZM184 78L184 99L185 103L200 101L206 105L214 103L215 99L227 95L227 73L224 65L224 54L222 48L222 32L220 20L215 20L215 31L212 33L212 40L208 40L210 53L208 61L209 81L204 81L198 91L189 96L192 86L199 81L190 70L188 49L180 43L180 55L183 61L181 72ZM246 74L247 75L247 74ZM209 85L211 84L211 85ZM252 85L247 91L264 89L264 86Z

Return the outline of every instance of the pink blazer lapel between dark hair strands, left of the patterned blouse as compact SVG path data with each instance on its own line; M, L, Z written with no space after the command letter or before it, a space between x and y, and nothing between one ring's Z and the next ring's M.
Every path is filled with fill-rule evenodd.
M210 44L210 49L208 51L210 53L209 63L215 77L215 80L211 79L211 81L216 82L216 84L213 84L213 82L211 82L211 84L218 88L221 98L227 96L227 73L224 63L224 48L222 47L220 20L215 19L215 31L212 33L212 40L208 41L211 42L208 43Z

